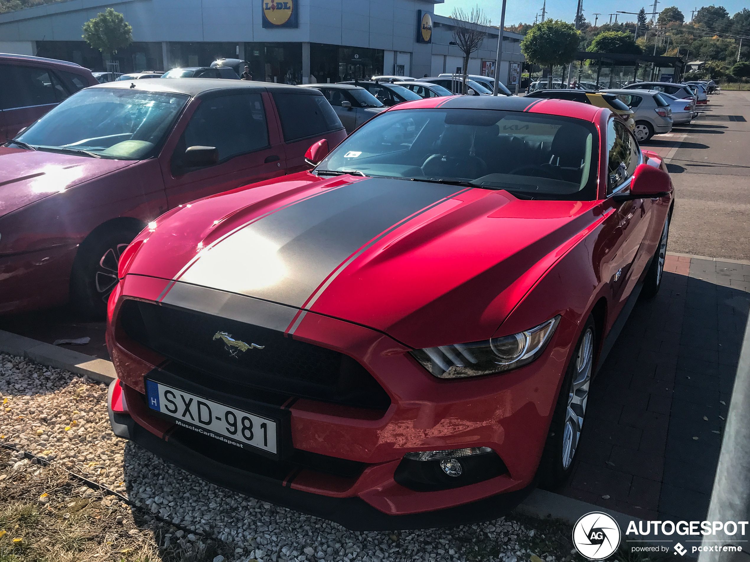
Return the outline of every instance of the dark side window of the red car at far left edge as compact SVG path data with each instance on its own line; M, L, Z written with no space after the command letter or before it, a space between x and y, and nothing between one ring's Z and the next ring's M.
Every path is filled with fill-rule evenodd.
M0 88L0 109L43 106L67 97L57 93L62 86L44 68L0 64L0 84L3 85Z

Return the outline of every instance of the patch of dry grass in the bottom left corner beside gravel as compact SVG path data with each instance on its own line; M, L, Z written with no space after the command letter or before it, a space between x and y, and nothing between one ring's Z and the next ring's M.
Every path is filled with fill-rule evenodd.
M224 543L178 538L176 528L82 487L58 466L13 470L12 460L0 449L0 562L233 559Z

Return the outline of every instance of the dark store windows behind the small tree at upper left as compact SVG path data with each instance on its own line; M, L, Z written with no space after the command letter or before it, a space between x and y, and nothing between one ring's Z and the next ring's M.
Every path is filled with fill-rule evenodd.
M37 41L36 55L71 61L94 72L107 70L104 67L105 55L97 49L92 49L86 41ZM118 49L118 52L107 60L117 61L121 73L165 70L161 43L130 43L124 49Z

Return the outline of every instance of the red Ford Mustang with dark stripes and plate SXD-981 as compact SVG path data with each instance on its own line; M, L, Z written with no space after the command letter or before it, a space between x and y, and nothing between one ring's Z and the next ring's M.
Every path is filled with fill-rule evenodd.
M402 103L308 160L127 248L115 434L353 529L562 483L592 375L661 282L661 160L609 109L490 96Z

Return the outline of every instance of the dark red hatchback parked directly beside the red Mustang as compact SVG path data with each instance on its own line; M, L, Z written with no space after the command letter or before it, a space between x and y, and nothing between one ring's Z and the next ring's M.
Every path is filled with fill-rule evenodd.
M299 172L346 132L317 90L240 80L86 88L0 147L0 313L104 316L122 250L193 199Z

